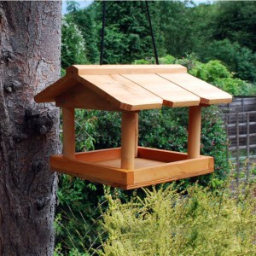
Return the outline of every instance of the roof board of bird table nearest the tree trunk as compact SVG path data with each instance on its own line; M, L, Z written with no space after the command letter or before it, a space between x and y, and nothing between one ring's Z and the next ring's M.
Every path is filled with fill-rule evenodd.
M161 108L162 99L124 77L113 75L83 75L79 81L90 86L108 102L127 111Z

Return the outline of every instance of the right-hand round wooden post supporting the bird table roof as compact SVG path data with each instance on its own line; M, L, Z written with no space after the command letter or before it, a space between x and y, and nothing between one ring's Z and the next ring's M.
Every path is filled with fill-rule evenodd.
M189 107L188 159L200 156L201 107Z

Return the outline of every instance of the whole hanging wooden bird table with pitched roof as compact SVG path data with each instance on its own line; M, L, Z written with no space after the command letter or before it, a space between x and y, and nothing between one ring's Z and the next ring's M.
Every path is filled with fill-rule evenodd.
M213 158L200 155L201 107L231 100L181 65L72 66L35 96L62 108L63 154L50 157L51 170L121 189L213 172ZM138 112L162 106L189 108L188 153L138 146ZM121 112L121 148L75 153L74 108Z

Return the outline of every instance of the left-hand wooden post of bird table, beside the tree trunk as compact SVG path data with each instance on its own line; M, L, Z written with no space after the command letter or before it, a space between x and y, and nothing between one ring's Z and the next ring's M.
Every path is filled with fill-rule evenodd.
M75 158L75 122L74 108L62 108L63 119L63 154Z

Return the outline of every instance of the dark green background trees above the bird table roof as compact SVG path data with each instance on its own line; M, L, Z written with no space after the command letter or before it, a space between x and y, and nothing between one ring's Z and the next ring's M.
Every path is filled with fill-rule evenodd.
M75 53L72 60L63 49L62 67L87 61L98 63L102 2L94 1L89 7L79 9L79 3L70 1L67 8L69 13L65 17L79 29L83 38L79 41L86 50L85 59L81 60ZM255 8L255 4L248 1L199 5L189 1L150 2L159 55L167 53L188 59L195 52L200 61L222 61L235 78L255 82ZM141 58L154 63L143 2L108 2L106 19L104 63L131 63ZM65 30L64 27L63 41L68 38L69 48L76 49L77 40L70 40L71 33L66 35ZM77 31L73 29L73 33Z

